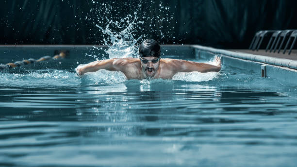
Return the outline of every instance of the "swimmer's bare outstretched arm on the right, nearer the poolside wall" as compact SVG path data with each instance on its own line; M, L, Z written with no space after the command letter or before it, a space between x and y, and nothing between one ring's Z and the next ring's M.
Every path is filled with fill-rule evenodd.
M221 59L219 57L215 57L215 65L207 64L207 63L197 63L186 60L179 60L179 67L176 68L178 71L176 72L218 72L221 70Z

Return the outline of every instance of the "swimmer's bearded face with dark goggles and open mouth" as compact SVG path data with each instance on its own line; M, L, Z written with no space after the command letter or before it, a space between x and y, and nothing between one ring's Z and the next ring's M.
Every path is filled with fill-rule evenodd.
M153 77L160 66L160 58L158 57L142 57L140 58L141 68L147 77Z

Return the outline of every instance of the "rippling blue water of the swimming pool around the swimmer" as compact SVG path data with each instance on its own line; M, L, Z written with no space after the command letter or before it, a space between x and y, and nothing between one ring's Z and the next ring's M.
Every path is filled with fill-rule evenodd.
M104 70L80 79L74 68L96 59L85 53L103 52L66 47L71 59L0 71L0 166L295 167L296 84L228 57L219 73L174 80L127 81ZM1 48L0 63L60 49ZM198 62L214 56L198 51L162 52Z

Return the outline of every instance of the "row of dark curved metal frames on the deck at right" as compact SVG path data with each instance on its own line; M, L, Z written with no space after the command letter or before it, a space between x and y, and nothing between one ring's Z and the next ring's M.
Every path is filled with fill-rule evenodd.
M273 52L276 52L276 50L278 50L278 53L280 53L283 44L285 44L285 41L287 41L286 45L283 49L283 54L286 53L286 50L288 49L289 45L291 44L289 52L288 52L288 54L290 55L293 47L295 46L296 40L297 40L297 30L263 30L263 31L258 31L255 33L248 49L258 51L262 42L263 42L263 39L266 37L270 37L270 39L266 46L265 52L267 52L267 50L270 47L269 52L271 52L272 50L273 50ZM293 38L293 42L291 43L292 38ZM272 44L271 44L271 42L272 42ZM281 44L280 44L280 42L281 42Z

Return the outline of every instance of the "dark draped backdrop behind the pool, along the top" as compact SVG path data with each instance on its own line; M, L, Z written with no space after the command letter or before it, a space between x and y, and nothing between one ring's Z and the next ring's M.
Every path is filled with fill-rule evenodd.
M135 11L144 23L134 36L162 44L247 49L256 31L297 29L297 0L1 0L0 6L0 44L104 44L95 25Z

